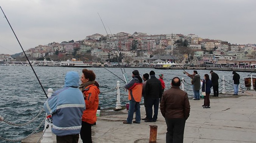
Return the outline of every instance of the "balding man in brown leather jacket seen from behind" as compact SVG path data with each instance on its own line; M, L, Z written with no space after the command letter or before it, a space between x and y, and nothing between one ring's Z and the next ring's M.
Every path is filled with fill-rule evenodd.
M167 125L166 143L183 143L190 104L187 92L180 89L180 84L180 78L173 78L172 87L165 90L160 103L160 110Z

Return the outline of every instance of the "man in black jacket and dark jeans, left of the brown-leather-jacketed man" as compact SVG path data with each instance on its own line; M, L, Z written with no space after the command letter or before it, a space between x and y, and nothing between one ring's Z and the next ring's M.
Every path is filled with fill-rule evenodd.
M145 86L147 100L146 107L146 115L148 117L145 122L155 122L157 120L158 115L158 106L159 106L159 97L162 94L162 85L159 79L155 77L155 72L150 71L149 73L150 79L147 80ZM153 110L152 107L154 105L154 116L152 118Z

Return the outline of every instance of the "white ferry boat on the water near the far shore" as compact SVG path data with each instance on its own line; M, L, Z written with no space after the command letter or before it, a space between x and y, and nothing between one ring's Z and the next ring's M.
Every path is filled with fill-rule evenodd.
M77 68L90 68L92 67L92 61L61 61L62 67L77 67Z

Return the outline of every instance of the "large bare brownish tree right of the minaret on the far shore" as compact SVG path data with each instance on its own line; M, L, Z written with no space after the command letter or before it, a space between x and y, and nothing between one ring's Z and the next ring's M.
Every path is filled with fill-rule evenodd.
M192 56L194 55L194 52L188 47L179 46L173 50L173 55L177 57L180 62L182 62L185 58L188 58L189 54Z

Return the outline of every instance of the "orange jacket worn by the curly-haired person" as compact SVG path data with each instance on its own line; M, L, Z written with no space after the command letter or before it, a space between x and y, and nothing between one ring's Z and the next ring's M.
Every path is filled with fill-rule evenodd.
M100 90L94 84L88 85L84 88L84 101L85 101L85 110L83 113L82 121L94 124L97 120L96 112L99 105L99 93Z

